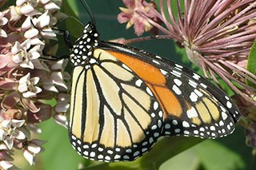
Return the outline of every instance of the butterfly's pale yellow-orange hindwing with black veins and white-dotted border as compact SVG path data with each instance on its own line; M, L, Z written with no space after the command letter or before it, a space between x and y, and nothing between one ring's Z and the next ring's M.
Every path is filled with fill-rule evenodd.
M90 62L95 63L74 68L71 143L91 160L134 160L161 135L162 109L140 77L117 58L95 49Z

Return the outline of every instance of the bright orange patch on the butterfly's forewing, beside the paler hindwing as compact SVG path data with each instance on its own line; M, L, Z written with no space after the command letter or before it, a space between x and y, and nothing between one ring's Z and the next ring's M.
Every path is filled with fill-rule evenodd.
M134 73L137 73L138 76L145 81L146 85L148 85L150 90L154 93L154 96L157 97L159 104L162 106L165 118L168 117L168 115L174 115L176 117L182 115L182 106L178 98L166 87L166 77L162 75L157 67L124 53L110 50L106 51L114 57L117 57L119 61L125 63Z

